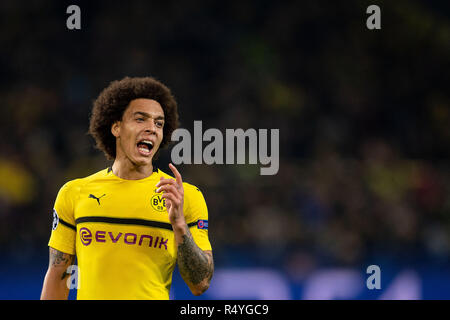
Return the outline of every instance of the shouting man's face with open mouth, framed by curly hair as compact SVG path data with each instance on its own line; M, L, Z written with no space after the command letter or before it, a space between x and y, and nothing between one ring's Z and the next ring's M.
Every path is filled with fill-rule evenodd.
M164 111L151 99L135 99L125 110L122 121L114 123L116 159L125 157L134 165L149 165L163 139Z

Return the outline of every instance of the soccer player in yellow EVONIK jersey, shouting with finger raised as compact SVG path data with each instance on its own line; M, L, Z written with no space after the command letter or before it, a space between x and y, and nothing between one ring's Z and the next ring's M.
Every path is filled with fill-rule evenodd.
M202 193L155 168L178 125L177 104L159 81L126 77L94 102L89 133L111 167L67 182L56 197L41 299L67 299L78 262L77 299L169 299L172 273L194 295L214 263Z

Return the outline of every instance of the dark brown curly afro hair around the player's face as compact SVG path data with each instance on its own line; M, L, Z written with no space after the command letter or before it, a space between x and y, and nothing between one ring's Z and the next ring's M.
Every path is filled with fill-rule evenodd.
M97 149L103 151L108 160L116 157L116 137L111 133L111 126L122 120L130 102L138 98L158 101L164 111L163 139L159 150L169 145L172 132L178 128L177 103L164 84L152 77L125 77L113 81L94 101L88 131L95 139Z

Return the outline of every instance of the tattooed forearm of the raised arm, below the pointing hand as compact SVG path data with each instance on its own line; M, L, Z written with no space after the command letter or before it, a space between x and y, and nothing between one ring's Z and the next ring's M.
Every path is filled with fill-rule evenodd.
M180 274L192 293L200 295L208 289L214 272L212 252L197 246L186 224L174 228L174 233Z

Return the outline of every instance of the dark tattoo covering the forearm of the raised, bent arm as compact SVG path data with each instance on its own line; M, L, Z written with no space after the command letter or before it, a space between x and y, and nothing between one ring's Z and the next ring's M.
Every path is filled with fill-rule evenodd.
M194 242L192 234L186 226L187 234L178 245L178 268L183 279L196 285L207 279L211 281L214 272L213 257L210 252L204 252Z

